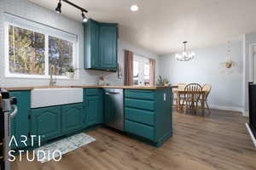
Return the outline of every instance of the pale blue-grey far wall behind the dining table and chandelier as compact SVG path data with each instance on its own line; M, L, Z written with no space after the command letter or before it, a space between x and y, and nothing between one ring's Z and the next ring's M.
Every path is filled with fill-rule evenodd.
M177 61L174 54L161 56L160 75L166 75L173 84L209 83L212 85L212 92L208 103L212 108L242 111L242 42L231 42L230 47L233 60L240 66L239 71L233 74L221 73L219 69L227 50L227 44L221 44L195 49L195 59L187 62Z

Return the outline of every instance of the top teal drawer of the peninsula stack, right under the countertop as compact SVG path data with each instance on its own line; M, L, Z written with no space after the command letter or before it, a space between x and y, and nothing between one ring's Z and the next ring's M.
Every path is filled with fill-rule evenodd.
M154 96L152 90L125 90L125 98L154 100Z

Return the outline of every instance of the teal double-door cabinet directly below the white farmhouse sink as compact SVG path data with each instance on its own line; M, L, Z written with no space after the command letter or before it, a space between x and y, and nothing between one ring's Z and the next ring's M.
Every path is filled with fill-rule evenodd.
M31 134L40 135L41 141L54 139L82 128L84 128L83 103L32 109Z

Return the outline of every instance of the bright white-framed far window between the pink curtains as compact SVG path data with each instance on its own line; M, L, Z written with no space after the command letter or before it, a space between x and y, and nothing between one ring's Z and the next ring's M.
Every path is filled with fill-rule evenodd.
M150 64L149 59L134 55L133 58L133 84L149 86Z

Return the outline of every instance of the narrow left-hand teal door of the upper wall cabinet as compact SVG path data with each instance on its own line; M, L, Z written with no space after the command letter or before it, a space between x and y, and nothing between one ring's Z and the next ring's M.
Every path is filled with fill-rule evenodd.
M99 65L99 25L95 21L90 23L90 59L92 68Z

